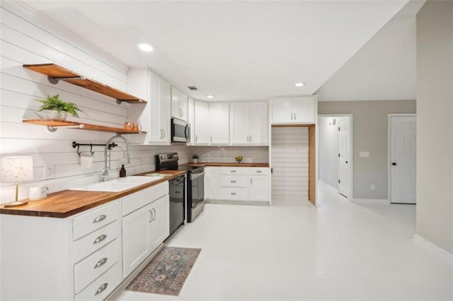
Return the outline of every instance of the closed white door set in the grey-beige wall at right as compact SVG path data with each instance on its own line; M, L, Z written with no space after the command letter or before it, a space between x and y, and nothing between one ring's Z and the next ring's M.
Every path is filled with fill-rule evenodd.
M415 203L415 116L390 119L390 202Z

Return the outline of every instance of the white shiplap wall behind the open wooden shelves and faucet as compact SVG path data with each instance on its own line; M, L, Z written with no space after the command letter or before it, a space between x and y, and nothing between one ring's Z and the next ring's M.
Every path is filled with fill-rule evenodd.
M103 168L103 147L94 148L93 166L82 169L71 143L105 143L113 133L77 129L58 129L51 133L45 126L23 124L22 119L35 119L40 105L35 98L47 94L59 94L63 100L81 107L84 111L81 118L68 117L69 120L105 126L122 127L129 105L117 105L113 98L69 83L52 85L46 76L22 65L56 63L120 90L127 90L128 67L20 2L2 1L0 8L0 156L31 155L34 160L35 177L21 185L20 198L28 197L28 187L40 184L54 192L98 182ZM124 143L118 144L125 149ZM123 157L120 148L115 148L112 155L113 177L117 177ZM131 165L126 166L128 175L153 170L156 153L178 151L181 162L187 162L187 149L185 146L132 146ZM89 147L81 148L81 151L88 150ZM1 183L0 203L13 200L13 195L13 184Z

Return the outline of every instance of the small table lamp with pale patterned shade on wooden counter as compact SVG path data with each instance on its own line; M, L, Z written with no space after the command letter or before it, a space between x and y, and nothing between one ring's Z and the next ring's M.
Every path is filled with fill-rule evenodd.
M4 207L25 205L28 201L18 201L19 181L33 179L32 157L3 157L1 158L1 182L16 182L16 201L4 203Z

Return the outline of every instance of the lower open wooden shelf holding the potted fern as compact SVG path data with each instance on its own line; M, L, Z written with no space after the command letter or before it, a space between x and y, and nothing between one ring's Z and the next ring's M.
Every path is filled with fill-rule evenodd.
M84 122L68 122L66 120L55 120L55 119L24 119L22 122L26 124L39 124L45 125L48 129L57 129L59 127L66 127L70 129L86 129L88 131L108 131L111 133L118 134L142 134L146 131L134 131L132 129L122 129L113 126L101 126L96 124L86 124Z

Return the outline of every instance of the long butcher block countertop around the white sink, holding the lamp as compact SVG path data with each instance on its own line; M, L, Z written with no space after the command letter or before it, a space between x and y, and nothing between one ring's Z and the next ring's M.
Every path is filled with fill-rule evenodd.
M150 172L143 172L139 175L146 175L148 173ZM169 176L119 192L82 190L58 191L53 194L48 194L47 199L41 201L30 201L28 204L23 206L12 208L4 208L4 206L0 206L0 214L67 218L76 213L102 205L103 203L108 203L109 201L120 199L128 194L133 194L134 192L142 189L166 182L175 177L179 177L180 175L184 175L185 173L185 171L179 170L159 171L159 174L166 174Z

